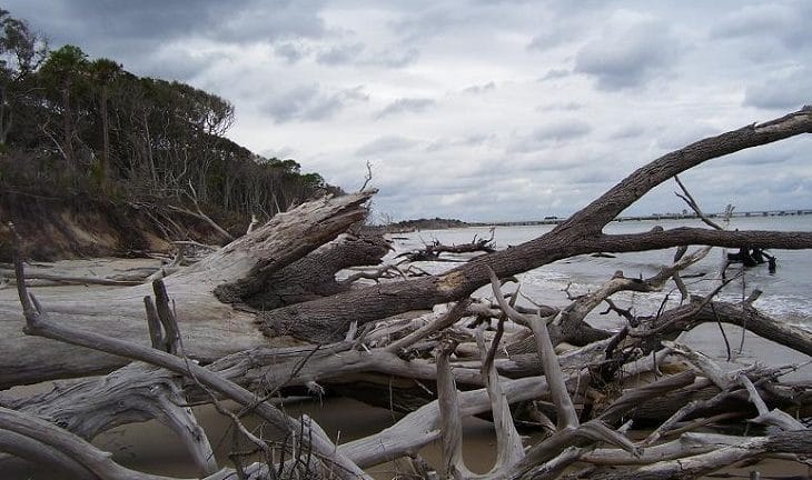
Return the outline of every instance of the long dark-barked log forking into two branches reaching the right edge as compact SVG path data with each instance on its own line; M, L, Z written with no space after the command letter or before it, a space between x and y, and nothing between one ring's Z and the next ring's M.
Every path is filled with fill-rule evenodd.
M330 299L281 308L263 316L269 336L335 340L354 321L365 323L406 310L430 308L469 296L488 282L568 257L595 252L655 250L686 244L715 247L812 248L812 232L719 231L697 228L605 234L603 228L654 187L707 160L739 150L812 132L812 108L780 119L706 138L642 167L551 232L507 250L474 259L442 276L374 286ZM344 306L351 304L353 309Z

